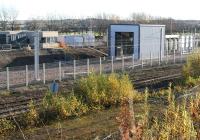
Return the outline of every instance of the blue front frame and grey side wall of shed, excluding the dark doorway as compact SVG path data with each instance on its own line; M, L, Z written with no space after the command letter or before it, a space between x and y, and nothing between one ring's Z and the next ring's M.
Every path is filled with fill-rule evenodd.
M108 29L108 46L110 56L116 53L116 33L134 33L133 52L135 59L149 59L164 56L165 25L149 24L112 24ZM123 46L122 46L123 47Z

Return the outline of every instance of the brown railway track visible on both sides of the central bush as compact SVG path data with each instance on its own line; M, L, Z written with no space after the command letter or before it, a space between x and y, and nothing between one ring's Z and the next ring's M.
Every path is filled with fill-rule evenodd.
M144 88L151 84L161 83L163 81L169 81L181 77L181 67L169 67L169 68L155 68L144 69L143 71L131 71L130 77L136 89ZM133 77L133 78L132 78ZM61 85L62 88L69 86ZM32 93L27 96L19 97L5 97L0 99L0 118L8 118L11 116L18 116L29 110L29 103L32 100L34 105L39 107L44 98L43 91L37 91L37 94Z

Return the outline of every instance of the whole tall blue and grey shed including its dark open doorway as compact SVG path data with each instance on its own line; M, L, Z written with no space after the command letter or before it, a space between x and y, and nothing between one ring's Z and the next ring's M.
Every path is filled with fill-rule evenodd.
M109 55L146 59L164 56L165 25L111 24L108 28Z

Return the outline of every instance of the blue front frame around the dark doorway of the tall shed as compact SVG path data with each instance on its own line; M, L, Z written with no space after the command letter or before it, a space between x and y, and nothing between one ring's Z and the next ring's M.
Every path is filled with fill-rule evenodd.
M139 24L134 25L124 25L124 24L116 24L116 25L110 25L109 27L109 34L108 34L108 40L109 40L109 47L110 47L110 56L115 56L115 34L116 32L133 32L134 33L134 57L135 59L139 58Z

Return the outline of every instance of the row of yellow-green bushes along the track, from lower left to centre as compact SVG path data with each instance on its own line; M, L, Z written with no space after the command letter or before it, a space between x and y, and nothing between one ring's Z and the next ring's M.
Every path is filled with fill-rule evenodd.
M89 111L118 106L122 101L133 99L142 100L142 96L134 91L127 75L95 75L76 81L76 86L71 93L53 94L47 92L40 107L30 101L29 111L18 119L22 128L43 126L54 120L63 120L78 117ZM11 120L5 122L2 127L11 129ZM7 125L8 124L8 125ZM14 128L18 125L11 124ZM2 133L5 131L2 129ZM0 131L1 133L1 131Z

